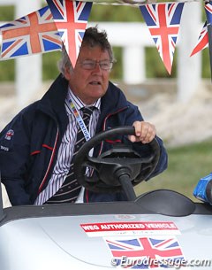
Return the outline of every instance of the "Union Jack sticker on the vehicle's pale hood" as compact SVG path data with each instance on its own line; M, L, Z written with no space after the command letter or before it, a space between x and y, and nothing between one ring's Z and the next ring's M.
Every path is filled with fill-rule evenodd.
M105 239L116 266L131 269L150 269L179 266L185 261L177 238L170 236Z

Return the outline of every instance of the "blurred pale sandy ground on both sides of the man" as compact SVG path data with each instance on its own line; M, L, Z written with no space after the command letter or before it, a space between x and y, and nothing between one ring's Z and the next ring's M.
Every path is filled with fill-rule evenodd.
M49 85L28 100L30 104L42 97ZM168 146L200 142L212 137L212 86L202 87L187 103L177 101L174 92L161 92L149 98L136 98L126 93L129 100L138 104L145 120L155 124L157 135ZM136 102L137 100L137 102ZM0 96L0 129L21 110L14 95ZM27 105L26 104L26 105Z

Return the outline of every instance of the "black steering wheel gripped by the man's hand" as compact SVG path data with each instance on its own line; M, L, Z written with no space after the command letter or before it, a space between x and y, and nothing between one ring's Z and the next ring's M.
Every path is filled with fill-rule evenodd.
M156 139L151 143L141 143L141 147L146 151L145 157L141 157L132 147L122 143L117 143L97 158L88 155L97 144L104 143L103 141L111 136L134 134L134 127L115 127L95 135L84 143L75 156L73 166L79 184L94 192L117 192L123 190L123 181L130 181L133 187L140 181L147 180L160 158L160 147ZM87 176L87 170L90 176Z

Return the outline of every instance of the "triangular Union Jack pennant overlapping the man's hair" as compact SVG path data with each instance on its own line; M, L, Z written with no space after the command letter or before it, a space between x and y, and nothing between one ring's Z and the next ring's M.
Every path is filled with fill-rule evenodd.
M72 0L47 0L47 3L72 66L75 66L92 3Z

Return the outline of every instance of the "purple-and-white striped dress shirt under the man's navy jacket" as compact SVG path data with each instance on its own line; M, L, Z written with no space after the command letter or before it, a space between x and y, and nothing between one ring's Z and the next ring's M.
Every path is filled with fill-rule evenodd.
M73 149L76 143L79 126L70 106L71 101L73 102L75 108L78 110L80 114L81 114L80 109L86 106L86 104L83 104L83 102L79 99L78 96L75 96L72 93L71 89L68 90L68 95L65 99L64 106L66 113L68 115L69 124L66 128L64 137L60 144L57 154L56 165L53 169L53 173L49 180L49 184L45 189L42 190L42 192L36 198L34 202L34 204L36 205L44 204L50 197L56 194L57 190L60 189L67 174L69 173L72 162ZM95 135L95 128L100 115L100 105L101 105L100 98L95 102L95 104L92 104L92 106L95 106L97 110L94 110L89 121L88 131L91 137Z

